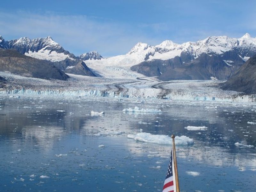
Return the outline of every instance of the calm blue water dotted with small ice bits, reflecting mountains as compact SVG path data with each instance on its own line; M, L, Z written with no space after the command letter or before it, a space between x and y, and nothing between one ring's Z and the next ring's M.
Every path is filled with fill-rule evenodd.
M122 112L135 106L163 112ZM105 116L91 116L92 110ZM256 122L255 110L251 104L0 98L0 191L161 191L171 146L127 138L140 129L194 139L176 146L181 191L255 191L256 124L247 123ZM188 131L188 125L208 129Z

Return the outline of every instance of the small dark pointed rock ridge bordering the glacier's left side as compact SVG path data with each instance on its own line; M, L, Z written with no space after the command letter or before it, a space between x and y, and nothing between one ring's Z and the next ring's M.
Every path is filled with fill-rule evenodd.
M95 76L83 61L79 61L75 66L68 67L65 70L65 73L72 73L72 74L84 75L84 76Z

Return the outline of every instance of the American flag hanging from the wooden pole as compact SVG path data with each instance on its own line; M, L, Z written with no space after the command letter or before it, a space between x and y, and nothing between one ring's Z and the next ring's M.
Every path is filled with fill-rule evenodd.
M173 151L171 153L170 163L164 180L163 192L176 192Z

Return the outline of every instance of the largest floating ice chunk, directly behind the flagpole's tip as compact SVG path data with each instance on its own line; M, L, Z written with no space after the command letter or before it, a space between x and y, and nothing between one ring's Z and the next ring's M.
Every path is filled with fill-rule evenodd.
M156 143L156 144L162 144L162 145L172 145L172 138L168 135L152 135L150 133L140 132L135 135L128 134L128 138L134 139L137 141L143 141L148 143ZM193 144L193 139L190 139L187 136L176 136L175 137L175 144L176 145L190 145Z

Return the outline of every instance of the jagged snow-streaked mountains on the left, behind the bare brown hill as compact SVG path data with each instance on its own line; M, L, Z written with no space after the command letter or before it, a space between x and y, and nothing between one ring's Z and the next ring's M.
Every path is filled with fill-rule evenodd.
M85 63L81 65L82 60L102 59L98 52L88 52L80 56L64 50L64 48L52 40L52 37L29 39L22 37L10 41L5 41L0 36L0 48L15 49L21 54L33 57L38 60L51 61L52 66L64 71L73 71L77 75L95 76ZM27 57L28 58L28 57ZM37 60L37 62L39 62ZM70 68L80 66L79 70L70 70Z

